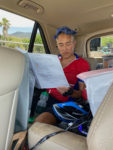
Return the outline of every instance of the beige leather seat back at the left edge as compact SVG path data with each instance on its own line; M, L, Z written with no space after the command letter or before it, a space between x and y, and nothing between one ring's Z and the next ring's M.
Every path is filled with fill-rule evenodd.
M0 47L0 150L9 150L12 140L24 63L23 54Z

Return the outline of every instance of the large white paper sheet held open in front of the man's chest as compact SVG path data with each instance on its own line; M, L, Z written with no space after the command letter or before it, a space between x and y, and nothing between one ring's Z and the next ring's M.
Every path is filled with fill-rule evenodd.
M57 55L29 53L38 88L69 87Z

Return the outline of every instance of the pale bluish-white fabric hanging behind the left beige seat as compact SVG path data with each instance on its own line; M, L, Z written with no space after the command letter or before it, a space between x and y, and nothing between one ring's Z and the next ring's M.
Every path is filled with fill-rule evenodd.
M33 91L35 86L35 76L29 61L28 52L17 48L25 56L25 68L23 79L19 88L18 105L15 122L15 132L26 130L28 127L28 117L31 110Z

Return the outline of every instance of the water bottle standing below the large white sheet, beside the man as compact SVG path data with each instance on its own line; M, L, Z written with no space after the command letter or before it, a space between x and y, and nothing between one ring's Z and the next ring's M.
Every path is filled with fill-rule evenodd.
M42 113L44 109L46 108L48 96L49 94L46 91L41 93L40 99L37 103L37 109L36 109L37 114Z

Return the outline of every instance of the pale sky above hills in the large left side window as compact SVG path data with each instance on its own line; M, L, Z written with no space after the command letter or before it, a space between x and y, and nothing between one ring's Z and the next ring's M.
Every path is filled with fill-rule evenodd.
M34 24L32 20L0 9L0 22L4 17L9 20L11 26L13 27L33 27Z

